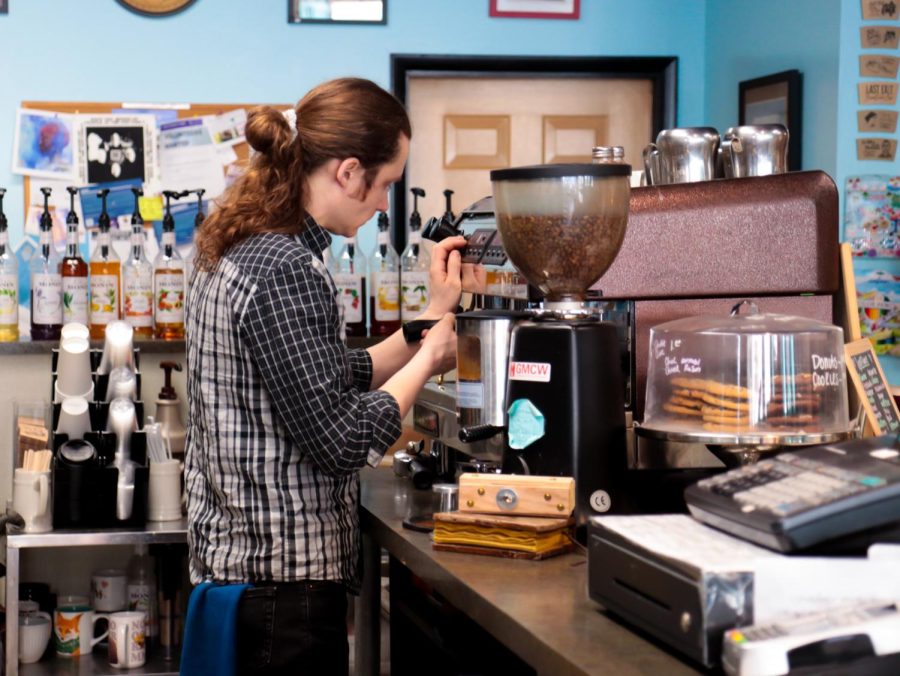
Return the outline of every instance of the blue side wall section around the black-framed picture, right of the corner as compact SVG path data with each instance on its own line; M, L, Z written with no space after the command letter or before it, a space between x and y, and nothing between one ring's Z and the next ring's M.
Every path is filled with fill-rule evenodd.
M844 0L856 6L859 0ZM841 0L710 0L706 12L706 118L738 122L738 83L784 70L803 74L803 168L837 168Z

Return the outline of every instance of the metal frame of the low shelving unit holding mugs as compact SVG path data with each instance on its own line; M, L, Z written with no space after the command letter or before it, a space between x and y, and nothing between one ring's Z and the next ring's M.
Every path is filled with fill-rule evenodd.
M148 522L145 528L128 530L55 530L49 533L22 533L9 528L6 534L6 674L178 674L177 662L165 662L158 655L148 657L137 669L115 669L101 654L72 660L43 660L23 664L19 670L19 579L23 549L49 547L99 547L104 545L180 544L187 542L187 522ZM14 620L14 621L11 621Z

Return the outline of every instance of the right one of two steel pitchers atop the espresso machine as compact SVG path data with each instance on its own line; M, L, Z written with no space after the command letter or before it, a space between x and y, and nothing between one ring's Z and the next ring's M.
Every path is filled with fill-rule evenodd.
M725 178L785 173L789 138L781 124L730 127L722 139Z

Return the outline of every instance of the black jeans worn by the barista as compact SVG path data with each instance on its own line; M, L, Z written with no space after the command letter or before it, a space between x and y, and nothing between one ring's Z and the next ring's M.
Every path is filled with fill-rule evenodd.
M256 584L237 618L239 676L347 676L347 592L336 582Z

